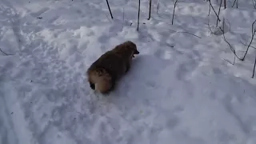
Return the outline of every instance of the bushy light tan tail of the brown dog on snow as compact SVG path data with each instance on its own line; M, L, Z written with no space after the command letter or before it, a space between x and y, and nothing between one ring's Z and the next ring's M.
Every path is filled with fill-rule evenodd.
M102 94L111 90L112 78L106 70L89 70L87 74L91 89L98 90Z

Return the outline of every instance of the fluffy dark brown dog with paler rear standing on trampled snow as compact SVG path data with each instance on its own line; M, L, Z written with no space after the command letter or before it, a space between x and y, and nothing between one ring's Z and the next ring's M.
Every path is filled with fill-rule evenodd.
M90 88L107 94L128 70L134 54L139 54L134 42L126 41L102 54L86 71Z

